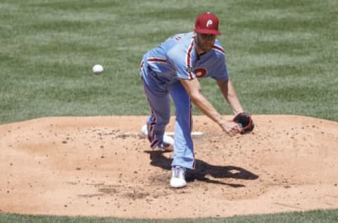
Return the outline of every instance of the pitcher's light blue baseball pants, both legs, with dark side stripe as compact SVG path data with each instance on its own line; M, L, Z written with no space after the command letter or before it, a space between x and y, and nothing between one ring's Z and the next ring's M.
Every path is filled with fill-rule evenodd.
M175 104L175 145L173 165L194 169L192 142L192 102L180 81L165 84L146 66L141 69L144 93L151 115L146 121L151 148L163 143L165 126L170 121L170 96Z

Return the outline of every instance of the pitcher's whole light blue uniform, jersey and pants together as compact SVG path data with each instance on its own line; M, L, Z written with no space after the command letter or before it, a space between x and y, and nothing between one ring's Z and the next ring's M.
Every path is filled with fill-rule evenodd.
M151 148L163 143L165 126L170 121L170 97L176 109L175 145L172 165L194 168L194 145L192 131L192 102L180 78L211 77L227 80L225 52L218 40L213 49L198 56L194 32L174 35L158 47L144 54L141 77L144 83L151 115L147 130Z

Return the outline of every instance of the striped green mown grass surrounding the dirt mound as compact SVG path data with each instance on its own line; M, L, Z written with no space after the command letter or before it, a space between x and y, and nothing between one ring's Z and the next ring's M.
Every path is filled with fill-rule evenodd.
M138 76L142 55L166 37L192 30L203 11L220 18L223 35L218 39L246 111L338 121L338 1L2 0L0 123L44 116L148 114ZM92 74L94 64L104 66L102 75ZM201 84L216 109L230 114L214 81ZM201 113L194 109L194 114ZM338 221L337 210L332 210L200 222L251 219ZM92 219L0 215L0 222L11 221Z

